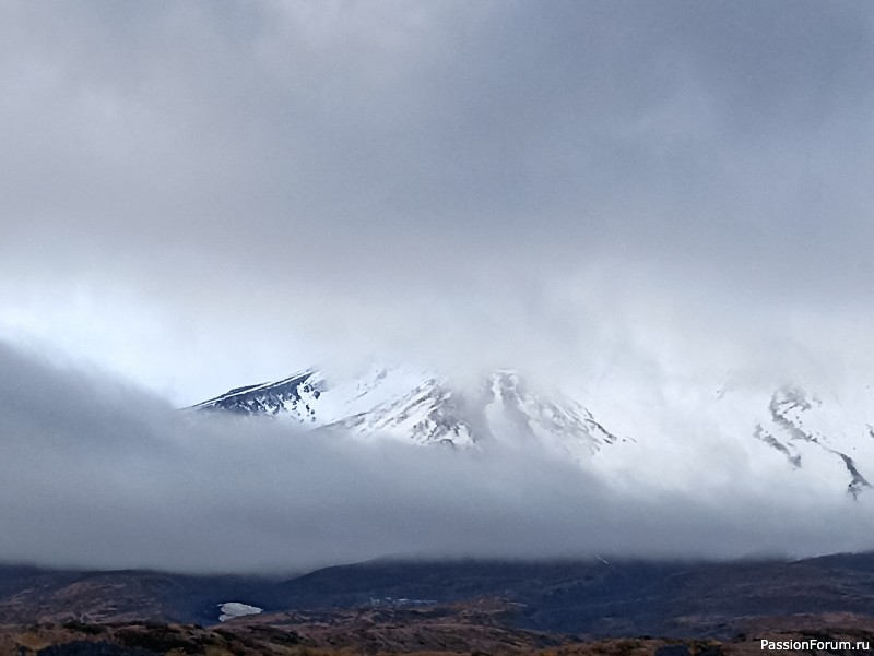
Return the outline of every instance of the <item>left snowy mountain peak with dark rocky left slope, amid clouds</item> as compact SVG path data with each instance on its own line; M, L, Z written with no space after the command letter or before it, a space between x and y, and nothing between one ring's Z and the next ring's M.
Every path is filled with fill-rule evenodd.
M353 377L307 369L281 381L231 390L193 407L276 416L312 429L420 444L530 441L575 458L617 441L577 401L535 386L516 371L495 371L460 385L413 369L374 368Z

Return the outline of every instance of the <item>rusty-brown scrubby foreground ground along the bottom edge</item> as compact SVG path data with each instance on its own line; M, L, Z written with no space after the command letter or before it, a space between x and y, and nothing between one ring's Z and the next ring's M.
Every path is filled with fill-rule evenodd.
M371 609L322 613L276 613L243 618L212 628L189 624L68 621L0 627L0 656L34 656L49 645L88 641L181 656L656 656L685 645L689 656L765 656L759 640L869 641L874 618L858 615L751 619L731 641L662 640L649 636L581 640L504 625L498 603L422 610ZM790 655L796 652L773 652ZM810 653L810 652L808 652ZM864 652L831 652L860 656Z

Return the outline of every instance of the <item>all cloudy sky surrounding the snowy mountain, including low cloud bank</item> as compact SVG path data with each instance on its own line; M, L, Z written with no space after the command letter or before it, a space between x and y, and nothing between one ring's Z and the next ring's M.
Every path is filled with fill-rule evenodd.
M870 548L718 430L677 496L173 408L374 355L681 436L729 379L858 397L872 80L854 1L0 3L0 560Z

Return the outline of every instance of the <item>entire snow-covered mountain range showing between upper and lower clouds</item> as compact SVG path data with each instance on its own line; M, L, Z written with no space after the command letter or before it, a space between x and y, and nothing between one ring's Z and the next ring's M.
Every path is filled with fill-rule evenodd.
M695 449L709 472L718 470L719 461L701 456L699 442L701 436L719 436L746 453L767 479L803 477L815 486L843 489L852 498L874 485L870 390L845 401L832 394L824 402L796 385L782 385L771 394L727 385L706 403L684 403L686 407L653 407L633 393L624 396L613 407L595 403L599 417L609 417L604 421L595 419L578 394L539 385L510 370L458 384L421 369L375 367L342 375L311 368L276 382L237 387L193 407L273 416L364 439L473 449L540 444L602 474L630 472L635 478L652 474L643 469L666 476L682 473ZM664 420L675 413L681 419ZM633 419L631 426L622 421L624 417ZM611 449L617 442L628 449ZM628 458L635 463L630 469ZM673 472L660 474L665 465Z

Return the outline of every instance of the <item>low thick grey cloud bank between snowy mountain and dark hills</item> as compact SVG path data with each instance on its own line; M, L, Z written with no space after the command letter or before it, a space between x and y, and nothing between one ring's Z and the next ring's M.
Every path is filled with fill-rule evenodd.
M870 501L729 472L692 492L542 452L474 453L178 413L0 344L0 560L293 571L378 556L808 556L872 547ZM688 465L688 455L684 456ZM706 467L696 469L707 472Z

